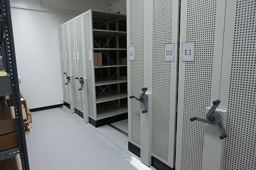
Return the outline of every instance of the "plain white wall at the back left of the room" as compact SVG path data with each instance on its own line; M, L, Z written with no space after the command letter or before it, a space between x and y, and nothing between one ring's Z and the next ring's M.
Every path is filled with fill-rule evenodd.
M28 108L63 103L58 25L73 15L11 8L14 45Z

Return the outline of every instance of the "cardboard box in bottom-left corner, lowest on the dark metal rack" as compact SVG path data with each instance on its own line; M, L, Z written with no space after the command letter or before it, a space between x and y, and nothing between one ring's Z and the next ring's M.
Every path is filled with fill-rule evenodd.
M17 156L0 161L0 167L3 170L22 170L21 157Z

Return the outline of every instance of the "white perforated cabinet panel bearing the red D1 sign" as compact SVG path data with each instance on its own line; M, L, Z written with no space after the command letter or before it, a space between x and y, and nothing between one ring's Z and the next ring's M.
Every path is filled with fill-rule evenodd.
M148 0L127 0L127 46L135 47L135 60L127 63L128 95L139 96L148 85ZM128 99L129 142L139 148L140 114L140 102Z

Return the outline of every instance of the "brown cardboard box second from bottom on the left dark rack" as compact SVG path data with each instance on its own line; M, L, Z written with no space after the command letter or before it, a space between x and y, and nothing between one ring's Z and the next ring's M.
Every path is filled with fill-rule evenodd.
M0 135L0 151L19 146L17 132Z

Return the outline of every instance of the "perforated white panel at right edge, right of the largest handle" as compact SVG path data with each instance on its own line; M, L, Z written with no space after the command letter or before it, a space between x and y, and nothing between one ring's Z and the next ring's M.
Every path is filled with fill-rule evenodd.
M223 170L256 169L256 0L237 0L233 14L227 133ZM225 56L223 56L225 57Z

